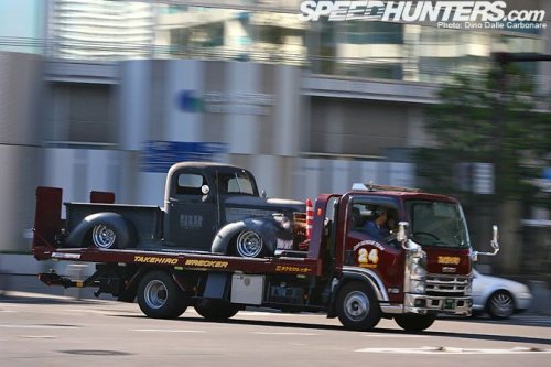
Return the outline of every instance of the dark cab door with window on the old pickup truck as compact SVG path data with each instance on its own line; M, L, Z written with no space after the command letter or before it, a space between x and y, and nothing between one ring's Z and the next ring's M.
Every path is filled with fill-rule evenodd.
M190 170L176 172L171 185L166 245L209 251L217 223L214 186L202 172Z

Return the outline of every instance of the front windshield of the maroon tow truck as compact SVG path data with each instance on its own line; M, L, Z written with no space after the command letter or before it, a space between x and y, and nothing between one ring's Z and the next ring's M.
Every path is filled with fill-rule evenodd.
M424 246L468 248L467 224L458 204L408 201L411 239Z

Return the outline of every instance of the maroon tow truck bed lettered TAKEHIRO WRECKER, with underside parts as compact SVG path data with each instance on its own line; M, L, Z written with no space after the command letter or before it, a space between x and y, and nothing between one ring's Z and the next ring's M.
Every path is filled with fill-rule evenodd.
M285 256L285 253L288 256ZM96 287L96 296L107 292L117 296L119 301L133 302L139 293L139 283L149 272L161 270L172 274L171 278L182 290L194 290L190 294L186 303L193 304L197 289L201 289L203 296L208 292L208 288L220 288L222 293L227 290L227 282L233 277L253 279L271 278L288 281L292 278L314 279L322 273L322 261L307 258L306 251L284 251L280 257L272 258L240 258L219 253L202 251L191 251L184 249L98 249L98 248L54 248L50 245L36 246L33 255L39 260L53 261L77 261L96 263L96 271L93 276L84 280L74 280L57 274L55 271L41 272L39 279L47 285L62 285L64 288L87 288ZM217 276L218 274L218 276ZM248 282L248 281L247 281ZM208 285L214 284L214 285ZM235 285L234 285L235 287ZM258 290L257 290L258 291ZM260 294L262 292L260 291ZM140 296L138 295L139 303ZM260 301L259 301L260 302ZM262 302L264 305L278 307L278 299L272 302ZM249 305L253 305L250 304ZM258 304L260 305L260 303ZM233 313L234 310L244 307L241 304L236 307L234 304L225 304ZM228 307L229 306L229 307ZM201 310L201 306L195 304ZM210 306L206 306L210 307ZM216 306L218 310L220 306ZM291 307L287 307L291 310ZM320 306L303 306L303 310L323 311ZM143 310L147 312L145 310ZM151 315L150 313L147 313ZM226 319L228 314L210 315L205 312L207 319ZM162 315L161 317L164 317Z

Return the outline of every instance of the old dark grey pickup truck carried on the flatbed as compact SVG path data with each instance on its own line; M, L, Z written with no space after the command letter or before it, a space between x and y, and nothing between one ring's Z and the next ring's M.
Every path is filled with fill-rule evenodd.
M260 195L241 168L205 162L174 164L166 175L164 207L115 204L93 192L90 203L64 203L63 191L37 187L35 226L56 247L208 251L240 257L293 250L304 240L305 205ZM298 230L299 228L299 230Z

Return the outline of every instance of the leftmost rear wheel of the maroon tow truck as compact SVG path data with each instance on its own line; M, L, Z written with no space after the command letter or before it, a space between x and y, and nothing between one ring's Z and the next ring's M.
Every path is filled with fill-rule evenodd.
M187 309L186 296L165 271L151 271L138 284L138 304L153 319L176 319Z

